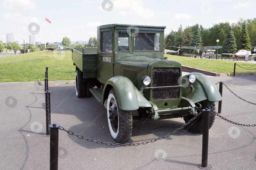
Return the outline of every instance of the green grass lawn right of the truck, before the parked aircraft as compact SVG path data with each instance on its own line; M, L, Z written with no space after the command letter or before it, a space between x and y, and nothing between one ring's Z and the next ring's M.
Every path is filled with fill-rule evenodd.
M238 61L228 61L228 60L216 60L216 59L203 59L203 58L194 58L194 57L182 57L182 56L174 56L165 54L164 57L168 57L168 59L175 60L181 63L181 65L185 65L188 67L193 67L197 69L213 71L216 73L234 73L234 63L237 63L241 67L247 68L251 67L254 64L251 63L243 63ZM255 70L246 70L242 69L238 66L235 67L236 73L245 73L245 72L256 72L256 65L250 69Z

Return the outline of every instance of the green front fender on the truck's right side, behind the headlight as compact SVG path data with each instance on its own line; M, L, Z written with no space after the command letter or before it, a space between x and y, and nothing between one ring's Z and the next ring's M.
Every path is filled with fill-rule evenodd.
M196 76L196 81L192 83L191 87L182 87L182 97L191 99L194 103L202 100L220 101L221 94L216 84L206 75L202 73L189 73L182 77L182 81L187 80L187 76L193 74Z

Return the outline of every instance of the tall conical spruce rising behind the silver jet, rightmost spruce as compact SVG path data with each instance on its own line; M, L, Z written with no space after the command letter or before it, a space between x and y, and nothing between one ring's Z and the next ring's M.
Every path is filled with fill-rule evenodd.
M248 30L245 23L243 23L238 47L240 50L244 49L244 50L251 51L251 49L249 48L250 46L251 46L251 43L248 35Z

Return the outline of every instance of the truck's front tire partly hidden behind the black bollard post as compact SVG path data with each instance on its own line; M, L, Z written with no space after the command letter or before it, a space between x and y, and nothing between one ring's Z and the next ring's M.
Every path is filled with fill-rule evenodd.
M209 101L209 100L203 100L199 102L202 105L202 109L208 108L208 109L212 109L215 112L215 103L214 101ZM201 110L202 110L201 109ZM200 111L198 111L200 112ZM213 122L215 120L215 114L214 112L210 111L210 117L209 117L209 129L212 127ZM185 123L187 123L190 119L192 119L194 116L193 115L188 115L186 117L183 117L185 120ZM195 132L203 132L203 116L199 116L197 119L195 119L194 121L192 121L190 124L188 124L186 126L187 129L190 129L192 131Z

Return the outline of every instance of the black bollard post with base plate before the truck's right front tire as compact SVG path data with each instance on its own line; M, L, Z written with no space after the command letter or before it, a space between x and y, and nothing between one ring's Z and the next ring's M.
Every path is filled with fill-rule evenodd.
M209 140L209 116L210 109L203 109L203 142L202 142L202 163L198 164L200 169L211 169L208 164L208 140Z

